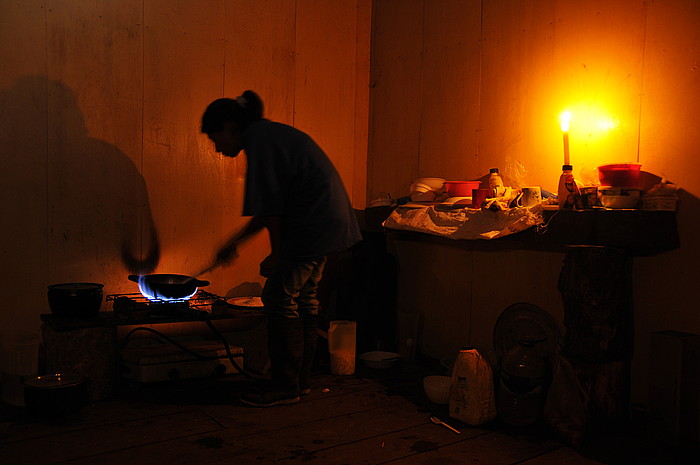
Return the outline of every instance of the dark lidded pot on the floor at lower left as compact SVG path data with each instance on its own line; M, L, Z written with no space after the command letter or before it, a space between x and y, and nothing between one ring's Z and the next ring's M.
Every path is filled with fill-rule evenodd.
M54 374L24 381L24 405L39 417L77 413L88 397L88 380L72 374Z

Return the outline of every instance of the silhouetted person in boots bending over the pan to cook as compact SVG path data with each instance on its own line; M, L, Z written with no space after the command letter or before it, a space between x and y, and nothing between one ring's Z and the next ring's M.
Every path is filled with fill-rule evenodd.
M243 151L247 171L243 216L247 225L218 251L217 263L235 259L237 244L267 229L271 253L260 264L267 318L271 382L241 402L268 407L308 394L316 351L317 288L330 254L361 239L340 175L304 132L263 118L263 102L247 90L220 98L202 116L202 133L217 153Z

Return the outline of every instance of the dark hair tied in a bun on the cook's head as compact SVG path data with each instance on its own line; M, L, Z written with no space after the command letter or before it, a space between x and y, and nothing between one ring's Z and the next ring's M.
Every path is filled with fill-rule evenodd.
M263 103L258 94L246 90L235 99L220 98L209 104L202 115L202 132L211 134L224 129L224 123L235 123L244 131L250 123L263 119Z

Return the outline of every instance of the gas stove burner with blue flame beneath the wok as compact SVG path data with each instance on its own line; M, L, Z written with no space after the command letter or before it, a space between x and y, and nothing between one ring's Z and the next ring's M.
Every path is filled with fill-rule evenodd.
M225 302L223 297L201 289L186 300L151 300L141 293L112 294L108 295L105 300L112 302L112 309L118 315L156 319L209 311L213 303Z

